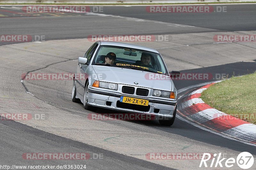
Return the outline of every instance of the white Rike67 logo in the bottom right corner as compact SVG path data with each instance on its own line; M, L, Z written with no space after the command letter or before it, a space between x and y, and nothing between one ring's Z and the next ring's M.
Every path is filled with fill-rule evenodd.
M234 166L234 164L236 163L242 169L249 169L250 167L252 167L252 165L254 163L254 158L253 158L252 154L249 152L240 153L236 157L236 159L235 158L227 159L225 157L223 158L223 156L221 156L221 153L219 153L218 156L217 156L217 153L214 153L213 157L211 157L211 156L212 155L210 153L204 153L199 167L202 167L202 165L204 165L204 167L208 167L209 164L207 165L206 161L208 161L210 159L211 159L210 167L218 167L218 166L223 167L223 165L225 165L226 167L230 168L230 167ZM215 160L216 160L216 162L215 162Z

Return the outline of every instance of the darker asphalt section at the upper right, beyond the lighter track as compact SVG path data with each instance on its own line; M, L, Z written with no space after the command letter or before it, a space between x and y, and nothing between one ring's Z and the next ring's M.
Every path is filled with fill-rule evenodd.
M211 5L209 5L211 6ZM220 31L250 31L255 30L256 4L248 5L212 5L227 7L227 12L209 13L149 13L146 6L136 7L104 7L105 14L120 15L125 17L142 18L175 24L184 24L211 28ZM235 16L235 17L234 17ZM172 31L170 33L173 33ZM189 33L189 32L188 32Z

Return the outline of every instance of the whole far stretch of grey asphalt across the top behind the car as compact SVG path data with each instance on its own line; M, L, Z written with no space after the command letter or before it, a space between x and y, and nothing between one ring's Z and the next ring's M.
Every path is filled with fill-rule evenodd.
M221 7L225 5L219 5ZM77 13L25 13L19 9L0 7L0 30L2 35L45 35L45 40L87 38L88 35L120 34L176 34L219 31L255 30L256 4L226 5L227 12L210 13L149 13L147 6L103 6L103 12L123 17L141 18L165 23L183 24L196 27L168 27L161 24L130 25L124 18L109 23L105 17ZM91 7L92 8L92 7ZM213 5L213 8L217 7ZM57 15L58 17L56 17ZM11 42L13 43L13 42ZM1 42L0 45L10 44Z

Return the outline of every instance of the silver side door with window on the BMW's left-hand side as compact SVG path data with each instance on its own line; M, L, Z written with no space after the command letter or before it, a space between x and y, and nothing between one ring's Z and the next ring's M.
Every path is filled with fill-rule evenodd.
M87 52L84 54L84 58L87 58L87 63L86 64L78 63L78 66L76 69L76 73L80 74L79 76L77 76L78 78L76 79L76 92L78 92L82 96L84 96L84 85L85 85L86 78L88 77L88 75L86 75L85 72L92 59L92 55L94 54L97 47L98 47L98 43L94 43L87 50ZM84 75L84 76L81 76L81 75Z

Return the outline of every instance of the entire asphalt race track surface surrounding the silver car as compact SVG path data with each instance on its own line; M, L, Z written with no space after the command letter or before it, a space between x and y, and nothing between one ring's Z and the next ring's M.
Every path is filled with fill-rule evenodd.
M78 56L92 45L90 35L154 35L168 41L131 42L159 50L169 69L211 75L174 80L179 96L221 77L256 70L254 42L216 42L214 35L255 35L256 5L227 6L227 12L149 13L146 6L103 6L92 13L25 13L0 7L0 35L43 36L45 41L0 41L0 114L44 118L0 120L1 165L86 165L88 169L198 169L200 159L148 159L148 153L250 152L253 144L228 139L177 118L171 127L157 121L96 121L71 101L72 80L24 80L31 73L73 73ZM157 39L159 40L159 39ZM129 42L128 42L129 43ZM113 113L98 109L97 113ZM177 113L179 115L179 113ZM88 160L28 160L25 153L88 153ZM99 155L103 155L99 159ZM255 164L255 163L254 163ZM210 163L208 164L210 166ZM220 168L220 167L218 167ZM254 165L255 168L255 165ZM200 169L200 168L199 168ZM206 168L207 169L207 168ZM225 168L220 168L225 169ZM227 169L227 168L226 168ZM237 165L232 169L240 169Z

